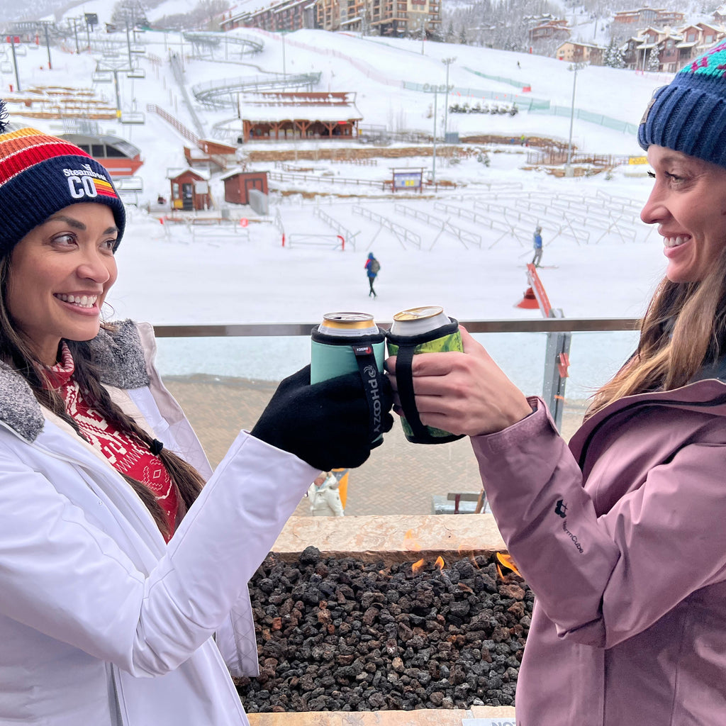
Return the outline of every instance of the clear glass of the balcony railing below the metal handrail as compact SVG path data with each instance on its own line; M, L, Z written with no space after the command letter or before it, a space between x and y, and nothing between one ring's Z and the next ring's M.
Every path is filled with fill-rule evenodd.
M542 395L547 333L476 333L475 338L515 385L528 395ZM576 430L587 398L618 370L636 342L637 333L628 331L573 333L563 436ZM240 428L252 428L277 382L309 357L305 335L158 338L159 370L213 465L224 457ZM383 445L351 471L346 515L441 513L452 510L449 494L479 489L481 478L468 439L441 446L410 444L396 417ZM470 509L473 504L461 507ZM309 515L306 499L296 514Z

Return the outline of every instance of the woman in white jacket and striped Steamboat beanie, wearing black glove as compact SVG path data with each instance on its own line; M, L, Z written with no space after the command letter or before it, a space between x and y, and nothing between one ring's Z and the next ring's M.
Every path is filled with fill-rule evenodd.
M125 224L99 163L0 124L0 723L246 726L248 579L317 473L367 459L369 404L306 367L213 472L151 326L102 319Z

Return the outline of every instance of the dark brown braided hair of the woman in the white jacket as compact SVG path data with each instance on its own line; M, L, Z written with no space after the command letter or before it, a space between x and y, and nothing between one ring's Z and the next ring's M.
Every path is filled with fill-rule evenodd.
M44 370L43 364L30 350L23 336L15 330L5 303L10 274L10 253L7 253L0 258L0 359L14 367L20 375L23 375L38 403L66 421L78 436L84 439L85 437L73 417L66 412L60 394L52 388L44 387L44 376L41 373ZM107 324L103 324L102 327L105 327L106 330L112 329ZM91 362L89 343L75 340L66 340L65 343L73 355L76 368L73 378L77 381L78 388L86 404L104 417L116 431L126 434L139 446L151 449L152 437L111 400L108 391L102 386L99 370ZM176 489L177 500L179 501L177 519L180 519L197 498L204 486L204 480L194 467L169 449L166 449L166 447L161 450L158 456L171 478L172 485ZM136 481L136 479L126 474L122 473L121 476L126 479L142 499L161 533L168 537L169 527L166 515L151 490L140 481Z

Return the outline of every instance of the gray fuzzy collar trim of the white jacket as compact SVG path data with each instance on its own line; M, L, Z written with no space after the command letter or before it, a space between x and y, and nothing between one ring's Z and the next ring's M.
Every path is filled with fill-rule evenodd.
M91 340L91 356L103 371L102 383L117 388L143 388L149 384L144 349L131 320L110 324ZM23 439L35 441L43 429L43 409L27 381L14 368L0 363L0 420Z

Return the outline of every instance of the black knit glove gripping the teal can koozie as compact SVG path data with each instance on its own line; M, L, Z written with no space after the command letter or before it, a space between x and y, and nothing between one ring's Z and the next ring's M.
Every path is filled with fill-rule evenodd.
M391 384L376 380L371 410L359 372L311 384L308 365L280 383L252 435L322 471L360 466L393 426Z

